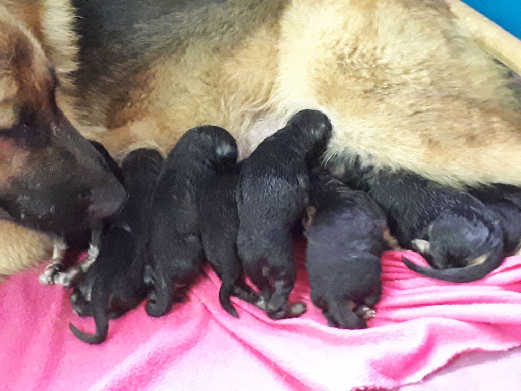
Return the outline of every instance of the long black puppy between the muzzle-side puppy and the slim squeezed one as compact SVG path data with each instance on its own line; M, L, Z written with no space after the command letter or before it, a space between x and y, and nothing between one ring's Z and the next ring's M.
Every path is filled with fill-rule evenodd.
M175 290L191 284L201 272L199 194L212 167L236 159L235 140L216 126L190 129L170 151L151 206L145 282L154 288L154 296L146 303L148 315L167 313Z

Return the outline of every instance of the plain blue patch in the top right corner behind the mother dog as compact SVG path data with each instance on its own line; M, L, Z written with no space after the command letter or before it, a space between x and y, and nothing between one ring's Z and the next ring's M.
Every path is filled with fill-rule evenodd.
M521 38L521 0L463 0L506 31Z

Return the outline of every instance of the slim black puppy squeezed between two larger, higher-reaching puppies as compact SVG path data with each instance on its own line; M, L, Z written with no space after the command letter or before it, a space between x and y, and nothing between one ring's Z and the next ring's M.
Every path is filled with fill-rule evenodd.
M222 157L212 165L211 172L201 189L199 213L201 239L206 259L222 280L219 302L232 316L239 317L230 296L263 308L261 298L244 281L242 262L237 254L239 216L235 189L240 167L237 164L237 147L229 152L220 151Z

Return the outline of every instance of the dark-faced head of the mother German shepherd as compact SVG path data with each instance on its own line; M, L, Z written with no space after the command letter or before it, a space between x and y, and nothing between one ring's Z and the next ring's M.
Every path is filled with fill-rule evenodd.
M52 64L0 6L0 208L55 233L115 213L125 191L56 105Z

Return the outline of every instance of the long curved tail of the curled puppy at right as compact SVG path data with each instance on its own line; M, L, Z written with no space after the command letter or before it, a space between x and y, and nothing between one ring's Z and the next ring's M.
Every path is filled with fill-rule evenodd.
M433 269L427 266L417 265L402 255L402 261L413 272L424 276L450 281L453 283L469 283L485 277L498 268L503 262L503 246L496 246L490 253L476 258L475 262L465 267L453 267L448 269Z

